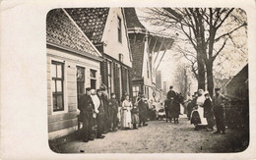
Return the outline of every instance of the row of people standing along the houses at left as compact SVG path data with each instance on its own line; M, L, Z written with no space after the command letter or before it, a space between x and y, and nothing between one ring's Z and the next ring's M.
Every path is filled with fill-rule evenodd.
M107 97L105 87L99 89L86 88L86 93L80 97L78 109L80 120L83 123L79 134L83 141L88 142L96 138L104 138L104 133L116 132L118 129L130 130L147 126L148 99L139 95L135 103L130 96L123 94L121 102L116 99L115 93ZM96 133L93 132L96 127Z

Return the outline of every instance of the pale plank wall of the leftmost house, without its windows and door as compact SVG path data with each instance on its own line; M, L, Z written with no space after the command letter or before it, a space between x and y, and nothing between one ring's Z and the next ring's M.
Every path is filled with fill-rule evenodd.
M53 112L51 91L51 61L64 63L64 111ZM99 62L47 47L47 108L49 139L74 133L77 130L77 66L85 68L85 88L91 86L90 70L96 70L96 87L99 87Z

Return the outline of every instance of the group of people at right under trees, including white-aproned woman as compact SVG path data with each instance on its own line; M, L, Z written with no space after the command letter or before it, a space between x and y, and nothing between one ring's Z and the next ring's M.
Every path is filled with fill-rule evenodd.
M213 99L209 92L203 89L195 92L192 100L187 104L187 116L191 124L195 125L195 131L206 129L208 132L213 132L216 124L215 133L225 134L224 95L221 94L221 89L215 89Z

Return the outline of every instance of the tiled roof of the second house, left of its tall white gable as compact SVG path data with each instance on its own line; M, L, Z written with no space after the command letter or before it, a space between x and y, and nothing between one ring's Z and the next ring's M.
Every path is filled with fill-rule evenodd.
M109 8L72 8L65 10L94 44L101 42Z

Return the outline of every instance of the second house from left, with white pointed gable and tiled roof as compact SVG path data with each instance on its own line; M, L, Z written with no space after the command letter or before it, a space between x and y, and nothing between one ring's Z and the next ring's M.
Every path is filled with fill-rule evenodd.
M66 9L103 56L101 82L118 100L130 94L132 55L123 8Z

